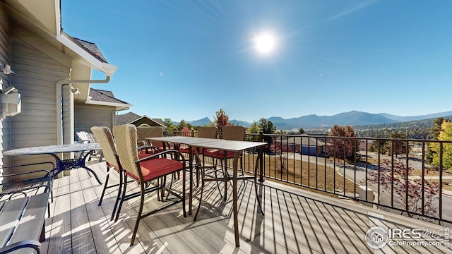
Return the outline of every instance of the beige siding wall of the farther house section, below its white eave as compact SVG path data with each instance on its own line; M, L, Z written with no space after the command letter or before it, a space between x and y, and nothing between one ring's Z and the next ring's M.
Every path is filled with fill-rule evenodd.
M93 126L113 128L113 113L116 107L94 104L75 104L75 131L91 132Z

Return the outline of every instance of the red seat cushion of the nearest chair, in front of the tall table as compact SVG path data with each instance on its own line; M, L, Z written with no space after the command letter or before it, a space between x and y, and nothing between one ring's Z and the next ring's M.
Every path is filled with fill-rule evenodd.
M183 169L184 165L182 162L174 159L155 158L140 162L140 166L141 173L143 174L143 180L150 181L152 179L157 179L161 176L166 176L167 174L179 171ZM140 179L139 176L135 176L130 172L127 172L127 174L136 180Z

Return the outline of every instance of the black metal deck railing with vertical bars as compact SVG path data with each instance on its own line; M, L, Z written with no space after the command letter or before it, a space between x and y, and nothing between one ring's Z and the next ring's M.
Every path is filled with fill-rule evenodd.
M448 198L452 202L452 169L446 168L452 141L263 133L246 134L246 140L268 143L259 172L264 179L452 223L452 209L444 205ZM254 171L256 156L252 150L242 153L244 171Z

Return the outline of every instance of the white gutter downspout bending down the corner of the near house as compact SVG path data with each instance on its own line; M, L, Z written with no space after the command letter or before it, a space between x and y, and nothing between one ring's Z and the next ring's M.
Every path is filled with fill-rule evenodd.
M85 83L85 84L94 84L94 83L108 83L110 80L110 76L107 75L105 80L59 80L56 85L57 89L57 145L63 145L64 133L63 133L63 85L70 85L73 83ZM73 95L71 94L70 99L70 107L71 107L71 115L73 116ZM73 117L71 119L71 142L73 141Z

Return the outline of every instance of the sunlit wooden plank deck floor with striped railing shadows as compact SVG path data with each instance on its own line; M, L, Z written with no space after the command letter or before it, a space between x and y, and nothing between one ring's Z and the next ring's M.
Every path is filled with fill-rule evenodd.
M100 179L105 163L90 162ZM112 174L117 181L117 174ZM181 188L181 181L174 188ZM130 186L136 186L131 183ZM137 238L129 246L138 207L136 199L124 203L117 223L109 220L116 191L110 189L97 206L102 186L85 170L54 180L51 217L46 219L42 253L445 253L441 246L388 246L374 250L365 234L371 226L433 231L444 227L397 214L302 191L272 181L260 186L265 216L257 211L251 182L239 184L240 247L234 245L232 198L222 201L215 183L206 191L198 220L183 217L182 202L153 214L140 223ZM149 195L148 206L158 205ZM198 200L194 200L194 213ZM188 207L188 202L187 202ZM441 232L440 231L440 232ZM432 237L425 236L428 241ZM424 240L417 239L417 242Z

